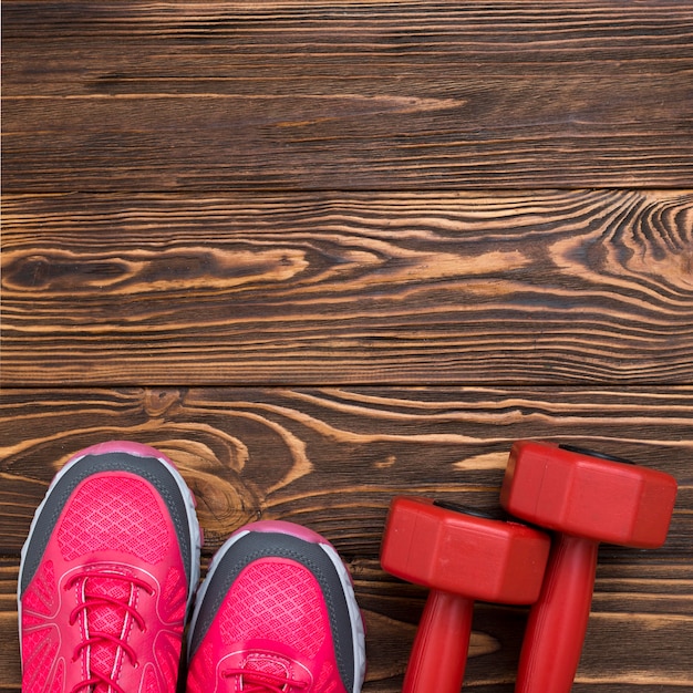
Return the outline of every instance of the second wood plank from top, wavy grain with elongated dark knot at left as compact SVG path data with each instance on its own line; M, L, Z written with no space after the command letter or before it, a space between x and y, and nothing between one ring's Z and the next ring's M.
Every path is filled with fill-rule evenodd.
M693 382L693 193L6 197L7 385Z

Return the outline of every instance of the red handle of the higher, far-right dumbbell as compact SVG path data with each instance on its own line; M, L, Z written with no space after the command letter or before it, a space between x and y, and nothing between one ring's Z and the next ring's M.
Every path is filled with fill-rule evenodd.
M569 693L592 603L597 551L590 539L557 535L539 600L531 607L516 693Z

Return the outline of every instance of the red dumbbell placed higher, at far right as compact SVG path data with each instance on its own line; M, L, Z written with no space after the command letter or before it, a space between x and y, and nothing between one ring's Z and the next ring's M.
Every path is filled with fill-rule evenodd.
M568 693L587 631L599 542L655 548L676 497L669 474L570 446L520 441L510 451L500 504L552 529L541 596L523 643L517 693Z

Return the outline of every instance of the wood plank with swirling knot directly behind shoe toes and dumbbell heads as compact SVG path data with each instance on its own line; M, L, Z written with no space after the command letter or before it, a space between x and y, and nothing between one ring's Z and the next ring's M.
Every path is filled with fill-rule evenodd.
M680 483L656 555L693 562L693 386L631 389L6 390L0 554L18 552L58 468L110 438L154 445L200 498L207 550L257 517L314 527L351 558L377 556L390 499L436 494L497 507L513 441L559 439L661 468Z

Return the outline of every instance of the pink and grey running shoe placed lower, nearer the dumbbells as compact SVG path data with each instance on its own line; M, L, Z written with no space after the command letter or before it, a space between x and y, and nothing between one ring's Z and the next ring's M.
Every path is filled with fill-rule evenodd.
M188 693L359 693L364 628L334 548L299 525L247 525L214 557L189 631Z

